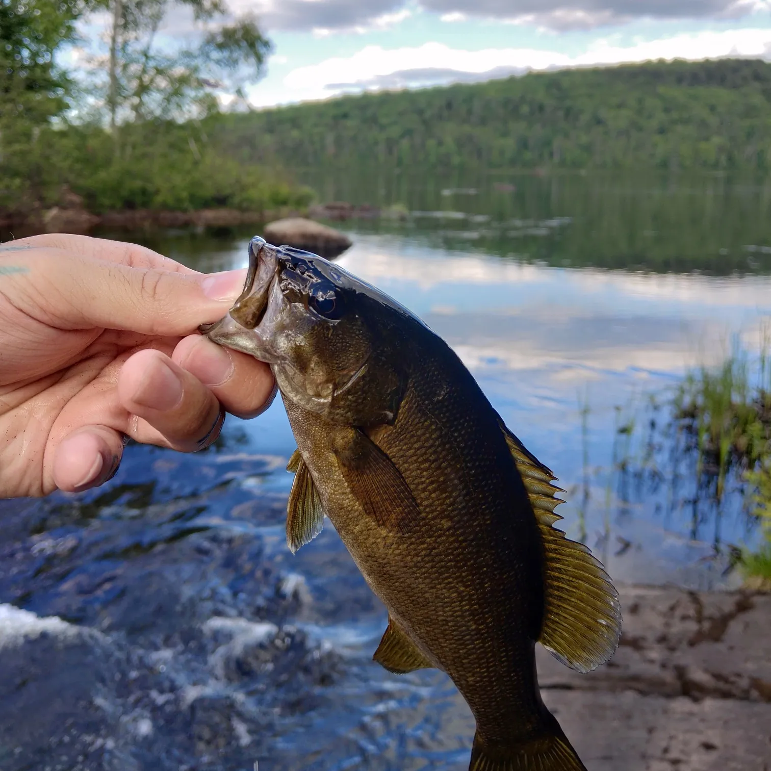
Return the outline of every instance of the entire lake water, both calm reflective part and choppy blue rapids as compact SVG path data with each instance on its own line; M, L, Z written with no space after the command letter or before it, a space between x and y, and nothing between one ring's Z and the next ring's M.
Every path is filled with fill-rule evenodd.
M338 262L452 345L559 477L564 528L615 581L736 581L728 547L756 544L757 528L736 491L718 510L678 479L661 431L690 368L739 345L758 359L771 316L769 184L307 181L322 200L399 204L391 217L338 224L354 241ZM219 271L247 264L251 232L106 235ZM251 769L257 759L261 769L466 768L473 723L446 678L396 678L369 663L385 611L332 526L296 557L286 549L294 449L278 399L253 421L229 417L204 453L130 446L102 490L3 504L0 601L108 635L126 678L100 697L113 717L89 729L113 736L97 748L106 765L82 767L123 752L134 764L123 767L139 769ZM271 624L294 662L281 677ZM100 655L59 663L74 678ZM152 682L136 685L131 672L145 669ZM43 702L46 687L35 685ZM8 697L4 709L22 708ZM46 759L35 736L0 766Z

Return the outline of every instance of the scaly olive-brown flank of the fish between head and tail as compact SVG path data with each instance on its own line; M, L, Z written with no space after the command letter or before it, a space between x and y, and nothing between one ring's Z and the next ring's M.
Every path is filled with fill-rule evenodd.
M424 515L408 534L384 532L363 516L334 454L315 449L321 443L312 436L303 439L328 437L334 426L291 402L287 412L311 475L325 480L325 510L372 590L453 678L480 730L502 739L512 726L527 732L527 716L537 714L530 662L543 609L540 544L503 434L486 411L471 409L481 396L476 382L464 377L465 389L456 385L436 399L465 369L456 372L452 352L433 358L420 359L395 425L377 439ZM517 499L519 515L511 506Z

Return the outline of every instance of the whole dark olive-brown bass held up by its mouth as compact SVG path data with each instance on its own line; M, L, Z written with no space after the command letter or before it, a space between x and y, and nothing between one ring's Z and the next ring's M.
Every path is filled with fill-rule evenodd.
M613 655L621 609L554 527L556 477L406 308L308 252L255 237L249 256L206 334L273 369L298 443L289 547L332 520L389 611L375 661L439 668L470 705L470 771L584 769L540 699L535 644L588 672Z

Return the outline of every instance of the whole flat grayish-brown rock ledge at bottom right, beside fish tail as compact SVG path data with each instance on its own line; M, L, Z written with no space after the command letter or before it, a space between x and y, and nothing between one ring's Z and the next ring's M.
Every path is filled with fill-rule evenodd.
M539 651L544 702L590 771L769 771L771 595L627 587L608 665Z

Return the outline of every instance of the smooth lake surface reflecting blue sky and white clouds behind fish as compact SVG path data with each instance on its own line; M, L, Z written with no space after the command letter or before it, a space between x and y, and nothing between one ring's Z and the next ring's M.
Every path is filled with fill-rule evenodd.
M440 214L412 224L448 219L447 211ZM449 215L464 222L481 217ZM552 234L572 227L573 219L517 224ZM662 490L643 495L642 483L641 500L633 502L610 479L618 465L618 409L637 409L687 369L719 362L737 333L758 345L771 315L771 277L555 267L500 258L457 239L445 248L433 231L408 233L399 223L348 223L347 229L355 245L340 264L415 311L453 346L510 427L560 477L569 493L561 507L569 534L600 550L614 577L693 586L724 581L726 561L713 559L711 523L694 527L692 513L665 505ZM246 264L246 234L217 248L189 239L180 234L163 249L205 271ZM190 251L191 243L197 250ZM266 452L288 455L294 446L278 402L242 428ZM740 503L722 525L723 543L753 544L758 537Z

